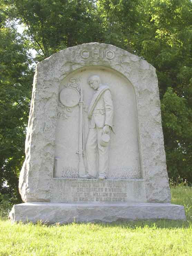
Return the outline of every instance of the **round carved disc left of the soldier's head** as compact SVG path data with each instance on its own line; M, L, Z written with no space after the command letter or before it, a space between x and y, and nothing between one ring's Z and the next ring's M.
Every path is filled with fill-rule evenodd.
M75 107L79 103L80 95L77 89L66 87L60 92L59 99L65 107Z

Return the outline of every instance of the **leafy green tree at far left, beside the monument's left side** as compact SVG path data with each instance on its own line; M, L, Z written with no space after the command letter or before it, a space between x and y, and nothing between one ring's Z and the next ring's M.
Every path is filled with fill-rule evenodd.
M0 7L0 194L17 202L33 68L26 39L8 19L6 6Z

